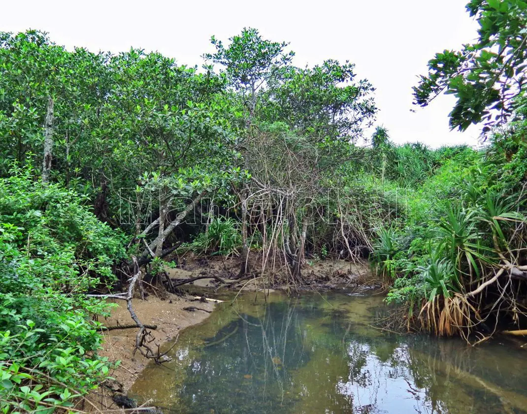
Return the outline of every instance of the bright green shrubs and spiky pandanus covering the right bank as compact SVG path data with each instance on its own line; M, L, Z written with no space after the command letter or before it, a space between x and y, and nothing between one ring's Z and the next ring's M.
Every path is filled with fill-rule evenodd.
M421 309L419 319L424 315L424 326L438 334L470 330L471 318L484 310L463 294L495 274L500 255L522 263L523 256L510 253L523 248L526 216L522 116L485 150L372 148L385 166L365 169L366 183L382 191L395 213L389 230L377 232L372 259L393 283L387 301L406 305L409 321ZM400 159L408 168L397 171Z

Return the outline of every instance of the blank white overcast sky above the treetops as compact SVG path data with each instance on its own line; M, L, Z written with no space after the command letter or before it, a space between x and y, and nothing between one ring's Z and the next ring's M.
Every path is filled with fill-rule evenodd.
M412 86L433 54L459 49L476 37L466 3L18 0L3 2L0 31L38 28L68 48L117 53L134 46L157 50L180 64L201 65L200 56L212 51L212 34L226 41L243 27L255 27L265 38L290 42L297 66L325 59L355 63L357 76L377 89L377 124L388 128L393 141L477 145L477 127L464 133L448 128L453 97L440 97L425 109L412 107Z

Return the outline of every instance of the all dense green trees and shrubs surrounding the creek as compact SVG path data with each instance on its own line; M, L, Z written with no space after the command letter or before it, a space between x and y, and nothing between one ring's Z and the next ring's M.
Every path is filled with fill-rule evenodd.
M240 278L256 252L291 286L309 283L306 255L370 258L409 328L524 327L527 5L467 7L479 42L438 54L414 92L455 93L452 126L489 128L480 150L366 136L374 87L353 64L297 68L252 28L212 37L200 69L1 33L0 409L52 412L96 387L107 306L87 294L134 261L170 289L161 261L180 243L235 256Z

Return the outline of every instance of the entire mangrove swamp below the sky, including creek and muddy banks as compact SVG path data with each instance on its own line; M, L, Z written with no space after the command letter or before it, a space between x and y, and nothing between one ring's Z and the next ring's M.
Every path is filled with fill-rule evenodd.
M0 412L527 412L527 3L466 13L407 92L474 147L257 28L0 32Z

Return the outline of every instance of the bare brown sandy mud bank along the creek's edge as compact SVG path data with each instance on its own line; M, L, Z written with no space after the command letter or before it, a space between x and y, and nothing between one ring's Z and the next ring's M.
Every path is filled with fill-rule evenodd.
M256 261L255 261L256 262ZM254 262L253 262L254 263ZM258 263L258 262L256 262ZM272 292L270 286L278 290L288 290L288 286L270 283L270 280L263 280L256 275L253 278L237 283L232 279L236 274L236 259L225 260L221 258L203 259L192 258L186 261L184 268L167 269L169 277L173 281L184 281L186 279L203 277L207 275L219 276L230 285L227 288L219 284L214 277L203 277L189 284L180 286L180 289L187 293L186 296L163 292L161 297L150 294L146 300L133 299L132 306L143 324L157 325L157 329L152 330L155 338L150 344L153 349L159 345L161 350L167 348L167 343L173 341L179 333L188 326L197 325L205 321L214 309L212 302L196 302L196 295L206 295L207 297L222 297L224 294L231 296L234 290L243 291L264 291L266 294ZM253 266L253 271L255 270ZM258 273L256 270L255 273ZM305 275L311 283L306 286L311 290L331 290L336 286L362 287L364 283L371 282L370 272L367 263L352 264L345 261L318 261L306 264ZM277 278L278 281L278 278ZM218 290L218 292L216 292ZM109 300L109 303L116 303L111 315L100 322L105 326L119 326L133 323L126 303L119 300ZM197 304L199 303L199 304ZM203 310L193 312L184 308L195 306ZM115 329L103 332L102 349L99 352L102 357L107 357L111 362L120 361L117 368L111 373L114 379L109 381L106 388L100 388L93 392L90 397L91 403L101 410L114 409L112 401L113 392L126 394L132 384L139 377L140 373L147 367L151 360L143 357L139 352L133 353L135 344L136 329ZM86 409L87 407L84 407Z

